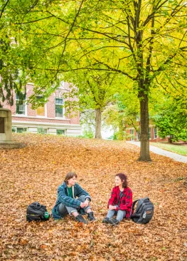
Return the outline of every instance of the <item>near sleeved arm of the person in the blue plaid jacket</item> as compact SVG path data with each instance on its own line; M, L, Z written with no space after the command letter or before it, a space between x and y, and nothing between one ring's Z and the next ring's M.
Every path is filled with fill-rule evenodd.
M81 203L79 200L70 198L67 195L65 195L65 189L62 186L58 188L58 200L60 201L60 203L63 203L63 205L72 208L79 208Z

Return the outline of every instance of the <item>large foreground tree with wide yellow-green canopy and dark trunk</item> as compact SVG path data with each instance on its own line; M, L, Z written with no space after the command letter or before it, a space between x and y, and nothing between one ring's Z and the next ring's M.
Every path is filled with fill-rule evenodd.
M141 118L139 160L150 160L149 92L186 66L186 6L186 0L38 1L32 12L16 16L16 24L21 36L45 53L40 66L33 63L36 70L46 68L46 58L56 73L112 71L134 83Z

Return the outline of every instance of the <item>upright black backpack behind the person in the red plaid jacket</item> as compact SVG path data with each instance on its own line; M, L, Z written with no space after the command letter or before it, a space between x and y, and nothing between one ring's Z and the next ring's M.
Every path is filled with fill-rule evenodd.
M134 211L134 206L137 203L137 208ZM154 215L154 205L151 203L149 198L140 198L132 203L132 210L130 213L130 218L139 224L149 223Z

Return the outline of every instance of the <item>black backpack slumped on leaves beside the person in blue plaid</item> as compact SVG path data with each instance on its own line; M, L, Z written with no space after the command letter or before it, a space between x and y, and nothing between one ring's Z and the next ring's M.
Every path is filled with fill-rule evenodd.
M45 218L45 212L48 212L45 205L34 202L31 205L28 205L28 208L26 209L26 220L28 222L48 220L49 216L48 218Z

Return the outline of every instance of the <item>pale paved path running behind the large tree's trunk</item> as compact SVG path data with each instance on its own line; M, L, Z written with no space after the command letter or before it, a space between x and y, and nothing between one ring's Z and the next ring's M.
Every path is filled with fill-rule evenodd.
M127 143L131 143L131 144L134 144L134 145L137 145L137 146L140 147L139 141L127 141ZM186 156L179 155L177 153L172 153L168 150L163 150L162 148L157 148L157 147L154 147L152 145L149 145L149 150L152 151L153 153L156 153L156 154L168 157L168 158L172 158L173 160L180 161L180 162L183 162L183 163L187 163L187 157Z

